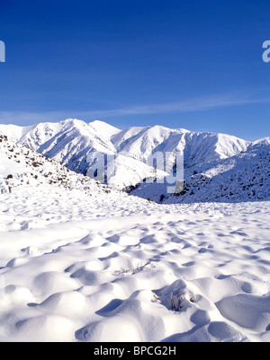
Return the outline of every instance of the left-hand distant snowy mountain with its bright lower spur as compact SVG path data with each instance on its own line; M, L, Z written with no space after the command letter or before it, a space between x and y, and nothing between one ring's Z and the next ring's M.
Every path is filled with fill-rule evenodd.
M134 186L154 176L153 168L148 164L117 154L111 137L121 130L101 121L86 124L84 121L67 119L56 124L43 123L33 127L0 126L0 131L12 136L18 144L62 162L67 169L84 175L91 174L95 154L109 155L115 160L116 166L107 182L118 189ZM103 175L99 174L97 180L104 179ZM159 176L164 175L160 171Z

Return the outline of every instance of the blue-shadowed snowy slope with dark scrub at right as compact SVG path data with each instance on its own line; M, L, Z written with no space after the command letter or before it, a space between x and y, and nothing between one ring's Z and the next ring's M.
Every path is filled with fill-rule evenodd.
M166 189L166 183L142 183L131 194L164 204L270 199L270 137L241 154L185 169L183 189L175 194Z

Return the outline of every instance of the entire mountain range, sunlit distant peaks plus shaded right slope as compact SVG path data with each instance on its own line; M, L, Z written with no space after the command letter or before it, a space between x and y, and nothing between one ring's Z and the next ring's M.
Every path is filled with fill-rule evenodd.
M61 162L71 171L90 177L99 172L102 176L96 180L102 179L101 182L116 189L133 190L132 194L155 201L161 196L162 201L169 202L213 201L226 196L234 200L265 199L270 193L269 183L260 186L261 182L260 191L254 195L246 179L247 173L252 173L257 181L269 180L270 138L251 143L236 136L183 128L154 126L121 130L102 121L87 124L78 119L31 127L0 125L0 133L16 144ZM161 154L157 156L157 163L153 154ZM167 194L165 184L155 181L173 173L176 154L182 154L184 160L184 189L177 197ZM107 160L98 163L99 156L113 159L114 171L106 169ZM246 171L246 180L243 180L243 171ZM148 178L152 183L143 183ZM235 196L236 178L238 187L246 186L244 189L249 189L251 195Z

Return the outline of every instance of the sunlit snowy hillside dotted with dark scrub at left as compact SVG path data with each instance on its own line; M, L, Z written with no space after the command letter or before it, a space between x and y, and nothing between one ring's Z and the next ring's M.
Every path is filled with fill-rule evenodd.
M96 184L65 166L16 144L0 134L0 193L12 193L14 188L57 186L63 189L79 189L89 194L100 193L108 188Z

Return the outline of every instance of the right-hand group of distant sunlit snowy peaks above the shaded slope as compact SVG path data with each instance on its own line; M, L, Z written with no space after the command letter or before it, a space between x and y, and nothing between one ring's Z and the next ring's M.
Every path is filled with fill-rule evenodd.
M157 152L180 152L184 154L185 167L240 154L249 144L235 136L160 126L131 127L112 136L112 143L118 153L128 154L142 162L148 162L151 154Z

